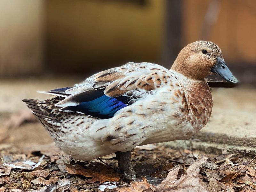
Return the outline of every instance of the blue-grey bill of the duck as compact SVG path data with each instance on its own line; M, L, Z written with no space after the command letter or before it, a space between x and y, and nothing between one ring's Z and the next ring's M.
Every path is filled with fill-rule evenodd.
M228 69L224 60L217 58L216 64L212 68L212 72L218 74L229 83L238 83L238 80Z

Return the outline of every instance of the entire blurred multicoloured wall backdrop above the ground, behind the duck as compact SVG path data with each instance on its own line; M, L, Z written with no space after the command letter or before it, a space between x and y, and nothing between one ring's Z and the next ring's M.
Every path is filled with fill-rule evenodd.
M1 0L0 10L1 78L86 77L128 61L170 68L185 45L206 40L255 82L256 1Z

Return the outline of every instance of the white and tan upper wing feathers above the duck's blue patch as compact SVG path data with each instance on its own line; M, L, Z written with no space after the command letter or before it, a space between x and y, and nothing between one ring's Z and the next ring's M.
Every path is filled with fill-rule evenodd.
M75 94L90 89L104 89L108 97L118 97L129 91L151 91L170 79L170 70L153 63L129 62L121 67L111 68L87 78L65 91Z

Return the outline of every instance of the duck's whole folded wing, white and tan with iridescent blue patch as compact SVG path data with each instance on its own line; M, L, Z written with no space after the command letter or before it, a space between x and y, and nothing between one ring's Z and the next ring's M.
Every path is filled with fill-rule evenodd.
M74 111L107 119L137 100L152 94L174 77L173 73L153 63L127 63L87 78L72 88L50 91L63 95L56 104L61 111Z

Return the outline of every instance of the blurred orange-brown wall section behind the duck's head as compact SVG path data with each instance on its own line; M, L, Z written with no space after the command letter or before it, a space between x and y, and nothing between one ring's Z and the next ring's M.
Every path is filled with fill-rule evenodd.
M209 3L219 4L212 26L204 25ZM228 65L256 66L256 1L184 0L182 7L184 44L210 40L220 46Z

